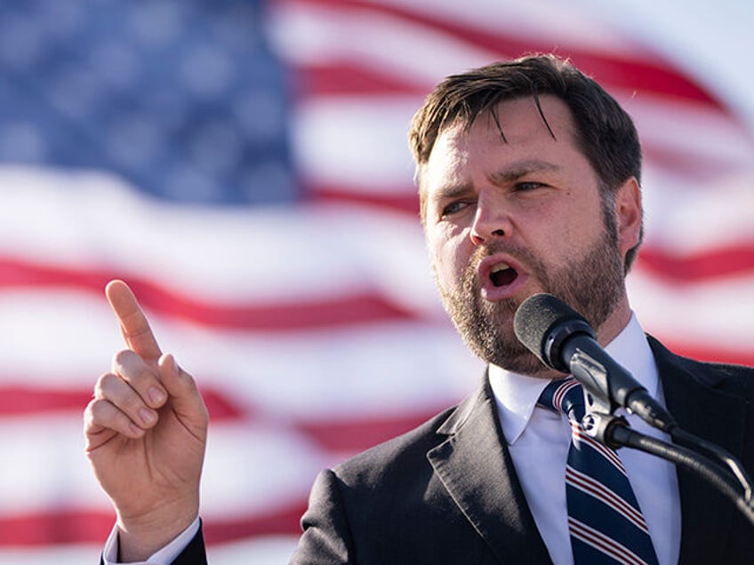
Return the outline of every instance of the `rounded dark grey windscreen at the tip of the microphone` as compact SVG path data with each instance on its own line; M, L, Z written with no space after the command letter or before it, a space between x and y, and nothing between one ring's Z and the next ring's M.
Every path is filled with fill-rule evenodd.
M569 322L586 320L571 306L551 294L534 294L518 306L513 318L513 330L516 337L529 351L545 365L562 370L562 363L553 359L551 337L554 331ZM548 343L550 342L550 343Z

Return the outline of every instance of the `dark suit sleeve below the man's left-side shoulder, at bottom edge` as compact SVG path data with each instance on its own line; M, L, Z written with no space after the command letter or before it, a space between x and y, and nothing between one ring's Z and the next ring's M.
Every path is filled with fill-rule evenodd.
M331 470L317 475L309 494L309 508L301 517L303 534L292 565L354 563L349 525L339 488Z

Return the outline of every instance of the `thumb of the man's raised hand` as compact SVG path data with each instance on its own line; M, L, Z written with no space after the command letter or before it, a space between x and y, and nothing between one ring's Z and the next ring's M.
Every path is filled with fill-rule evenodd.
M197 381L185 370L180 369L172 354L163 354L157 361L160 379L170 397L170 404L176 416L192 431L206 435L209 415Z

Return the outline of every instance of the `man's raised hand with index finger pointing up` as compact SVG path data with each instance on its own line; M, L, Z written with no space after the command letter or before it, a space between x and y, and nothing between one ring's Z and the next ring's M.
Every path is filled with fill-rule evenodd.
M128 347L84 411L86 454L117 515L122 561L146 559L194 521L207 410L196 382L162 354L131 289L106 288Z

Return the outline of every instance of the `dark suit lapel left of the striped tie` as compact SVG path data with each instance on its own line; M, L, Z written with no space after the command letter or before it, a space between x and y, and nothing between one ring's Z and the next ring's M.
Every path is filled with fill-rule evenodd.
M501 562L547 563L486 384L438 431L448 439L427 454L445 489Z

